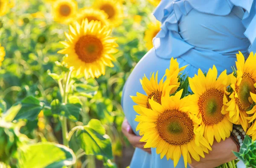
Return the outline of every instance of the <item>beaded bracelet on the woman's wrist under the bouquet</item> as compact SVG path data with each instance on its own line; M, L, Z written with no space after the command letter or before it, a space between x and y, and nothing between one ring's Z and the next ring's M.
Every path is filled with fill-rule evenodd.
M238 151L240 147L243 145L243 140L246 135L246 132L239 126L233 126L233 130L231 132L231 137L233 141L236 143Z

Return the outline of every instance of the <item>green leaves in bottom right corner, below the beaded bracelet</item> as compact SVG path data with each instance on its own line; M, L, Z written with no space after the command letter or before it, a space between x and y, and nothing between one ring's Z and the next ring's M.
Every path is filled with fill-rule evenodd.
M256 168L256 141L248 135L245 136L239 152L234 152L239 160L242 160L247 168Z

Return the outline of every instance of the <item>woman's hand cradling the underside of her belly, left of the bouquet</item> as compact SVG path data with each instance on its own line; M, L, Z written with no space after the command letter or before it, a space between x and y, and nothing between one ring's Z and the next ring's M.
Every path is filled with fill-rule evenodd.
M144 148L145 143L140 142L141 136L137 136L136 134L134 134L126 118L122 123L122 132L125 134L125 137L127 137L128 141L131 143L132 146L140 148L143 151L151 154L151 148Z

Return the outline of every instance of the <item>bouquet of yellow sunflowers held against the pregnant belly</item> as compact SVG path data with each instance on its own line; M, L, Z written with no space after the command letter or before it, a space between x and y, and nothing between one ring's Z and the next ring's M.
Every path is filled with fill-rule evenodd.
M137 104L135 120L144 148L156 148L161 159L166 156L174 166L182 155L186 167L191 158L205 157L214 140L219 143L232 134L240 146L245 134L255 140L256 55L250 53L244 60L239 52L232 74L224 70L218 76L213 65L207 73L199 69L190 78L182 74L186 66L179 68L172 58L159 83L157 73L150 79L144 76L141 84L146 95L131 96ZM234 167L235 162L223 166Z

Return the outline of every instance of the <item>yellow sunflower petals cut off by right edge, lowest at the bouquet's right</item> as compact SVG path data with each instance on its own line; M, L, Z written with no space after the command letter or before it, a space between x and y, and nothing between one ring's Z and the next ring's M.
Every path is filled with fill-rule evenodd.
M254 87L256 88L256 84L254 84ZM250 92L251 99L254 103L256 103L256 94ZM252 137L252 140L256 140L256 105L253 106L253 108L250 111L246 112L248 115L251 115L251 117L248 117L249 123L252 123L249 127L247 134Z

